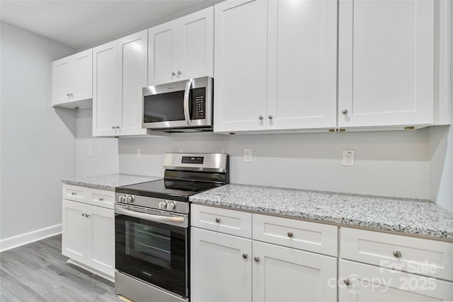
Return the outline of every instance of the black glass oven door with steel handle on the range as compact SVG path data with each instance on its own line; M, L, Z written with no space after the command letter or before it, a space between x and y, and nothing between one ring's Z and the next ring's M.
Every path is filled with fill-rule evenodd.
M115 204L115 269L188 296L188 215Z

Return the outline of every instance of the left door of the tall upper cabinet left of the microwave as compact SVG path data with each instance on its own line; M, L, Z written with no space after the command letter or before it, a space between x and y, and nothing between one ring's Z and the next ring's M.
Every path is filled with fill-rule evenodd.
M93 137L119 132L117 41L93 48Z

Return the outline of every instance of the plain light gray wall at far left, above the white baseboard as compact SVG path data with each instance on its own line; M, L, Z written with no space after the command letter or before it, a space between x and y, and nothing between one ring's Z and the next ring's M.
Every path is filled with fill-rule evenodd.
M61 178L74 176L74 110L51 106L51 62L73 53L1 23L0 239L62 222Z

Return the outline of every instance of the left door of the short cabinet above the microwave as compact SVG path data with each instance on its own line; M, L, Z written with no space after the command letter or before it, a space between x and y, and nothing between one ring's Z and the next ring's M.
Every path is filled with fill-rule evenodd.
M178 71L174 66L174 58L181 56L180 47L174 47L178 43L178 30L174 23L168 22L149 28L148 32L148 85L166 83L168 81L177 81L179 79ZM179 53L178 53L179 52Z

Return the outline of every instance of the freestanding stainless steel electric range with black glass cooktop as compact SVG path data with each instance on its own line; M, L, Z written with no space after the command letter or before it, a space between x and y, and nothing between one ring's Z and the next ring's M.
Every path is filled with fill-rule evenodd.
M115 289L133 301L189 299L189 202L229 182L225 153L166 153L164 179L115 189Z

